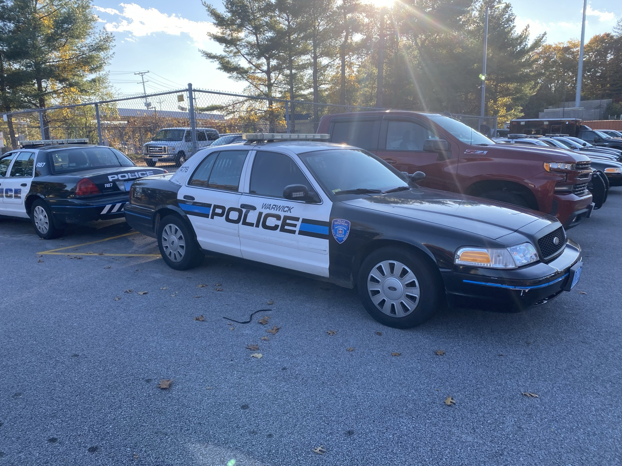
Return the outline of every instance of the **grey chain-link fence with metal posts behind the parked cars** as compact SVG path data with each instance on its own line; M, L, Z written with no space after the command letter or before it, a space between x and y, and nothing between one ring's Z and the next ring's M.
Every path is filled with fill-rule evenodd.
M269 99L188 85L164 93L10 112L3 115L0 131L5 150L17 148L20 140L86 138L141 160L142 145L164 128L192 129L180 142L193 153L209 143L209 132L203 128L220 134L313 133L324 115L372 110L384 109ZM496 117L452 116L491 137L496 134Z

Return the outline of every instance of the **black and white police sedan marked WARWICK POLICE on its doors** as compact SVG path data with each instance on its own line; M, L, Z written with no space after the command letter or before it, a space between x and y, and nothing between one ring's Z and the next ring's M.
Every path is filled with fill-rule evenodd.
M577 283L581 249L555 217L420 188L423 173L327 138L245 134L197 152L135 181L126 220L177 270L205 251L357 286L369 314L399 328L445 299L518 310Z

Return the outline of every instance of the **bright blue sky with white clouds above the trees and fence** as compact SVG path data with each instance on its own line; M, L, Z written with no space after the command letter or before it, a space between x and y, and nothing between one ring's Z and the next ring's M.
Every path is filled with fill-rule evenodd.
M377 4L394 0L369 0ZM582 0L510 0L519 29L529 25L531 37L547 33L547 42L579 39ZM212 4L222 7L221 0ZM100 25L113 32L116 47L107 67L116 94L142 93L140 76L147 71L147 93L195 88L239 93L244 83L231 80L216 69L199 49L219 52L207 37L213 25L200 0L94 0ZM588 0L585 37L613 29L622 17L620 0Z

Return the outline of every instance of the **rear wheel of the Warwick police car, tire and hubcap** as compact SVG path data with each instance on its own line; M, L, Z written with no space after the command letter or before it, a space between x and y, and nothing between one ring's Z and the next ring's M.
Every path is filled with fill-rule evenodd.
M197 267L205 258L188 224L176 215L167 215L160 221L157 246L166 265L175 270Z

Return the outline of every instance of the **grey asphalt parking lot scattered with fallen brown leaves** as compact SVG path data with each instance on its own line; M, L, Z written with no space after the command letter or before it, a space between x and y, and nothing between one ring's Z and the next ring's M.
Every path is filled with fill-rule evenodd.
M123 222L0 220L0 465L620 464L621 231L614 188L572 292L405 331L320 281L177 272Z

